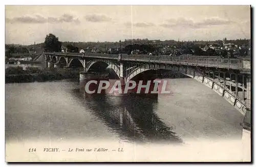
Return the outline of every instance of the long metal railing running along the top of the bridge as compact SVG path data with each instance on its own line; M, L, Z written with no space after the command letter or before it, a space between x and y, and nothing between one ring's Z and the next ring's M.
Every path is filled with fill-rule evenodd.
M90 57L101 59L114 59L118 60L118 54L103 54L103 53L59 53L59 52L46 52L50 55L66 55L67 57ZM230 58L214 58L214 57L196 57L196 56L179 56L171 57L166 55L152 56L140 54L122 54L121 60L124 61L137 61L137 62L152 62L152 63L165 63L165 64L180 64L190 66L204 66L204 67L217 67L228 69L243 69L243 59L230 59Z

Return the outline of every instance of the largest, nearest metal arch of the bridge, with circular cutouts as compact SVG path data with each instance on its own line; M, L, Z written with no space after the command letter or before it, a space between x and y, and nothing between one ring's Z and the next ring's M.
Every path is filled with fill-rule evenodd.
M239 97L236 97L236 95L232 93L231 90L229 90L226 86L223 85L223 83L219 80L219 78L211 77L209 75L210 71L208 71L208 74L207 74L207 73L203 73L203 71L201 71L200 69L192 68L189 66L183 67L183 66L177 66L177 65L145 64L145 65L139 66L138 68L134 69L130 74L128 74L126 76L126 82L145 71L157 70L157 69L172 70L174 72L182 73L186 76L196 79L197 81L201 82L205 86L211 88L213 91L218 93L225 100L227 100L231 105L233 105L236 109L238 109L240 113L245 115L247 110L245 101ZM230 73L230 76L232 75L233 73ZM231 79L232 78L230 78L230 81ZM230 83L229 88L231 89L231 82L229 83Z

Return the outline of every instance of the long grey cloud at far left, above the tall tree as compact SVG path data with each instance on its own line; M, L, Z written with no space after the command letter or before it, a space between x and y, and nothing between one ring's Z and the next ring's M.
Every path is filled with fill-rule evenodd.
M80 22L78 18L74 18L73 15L63 14L60 17L42 17L40 15L35 16L20 16L13 18L6 18L7 23L59 23L59 22Z

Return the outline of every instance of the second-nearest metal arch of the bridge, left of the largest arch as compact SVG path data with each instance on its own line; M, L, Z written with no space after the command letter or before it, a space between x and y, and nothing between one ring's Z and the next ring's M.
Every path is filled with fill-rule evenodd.
M112 61L109 61L109 60L93 60L93 61L90 61L87 64L86 71L89 71L90 69L92 69L93 67L95 67L97 65L100 66L100 64L101 65L103 64L103 66L102 66L103 68L110 66L110 68L112 68L115 71L116 75L118 77L120 76L119 66L117 64L113 63Z

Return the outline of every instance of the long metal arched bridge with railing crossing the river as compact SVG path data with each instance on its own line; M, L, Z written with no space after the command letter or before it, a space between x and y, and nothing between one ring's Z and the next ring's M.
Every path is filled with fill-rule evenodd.
M123 82L151 70L172 70L209 87L243 115L251 109L250 59L67 52L45 52L44 55L48 68L81 67L85 72L102 72L111 67Z

